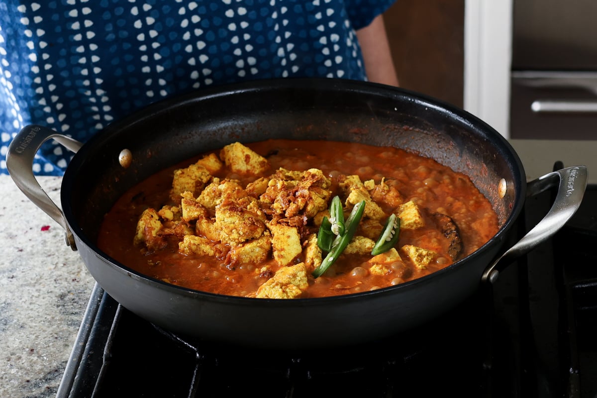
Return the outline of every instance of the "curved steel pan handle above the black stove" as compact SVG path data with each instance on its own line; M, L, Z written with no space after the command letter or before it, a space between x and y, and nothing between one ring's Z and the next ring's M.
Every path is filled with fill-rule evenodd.
M527 196L535 196L547 189L558 187L558 194L552 208L527 235L515 243L485 269L481 280L494 283L508 264L527 254L539 243L555 235L574 215L583 200L587 187L586 166L573 166L550 172L527 185Z

